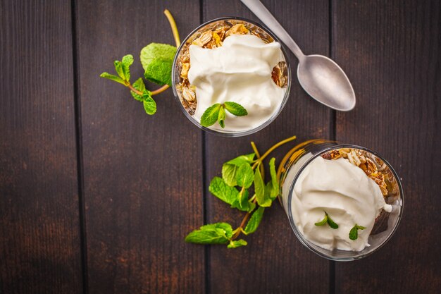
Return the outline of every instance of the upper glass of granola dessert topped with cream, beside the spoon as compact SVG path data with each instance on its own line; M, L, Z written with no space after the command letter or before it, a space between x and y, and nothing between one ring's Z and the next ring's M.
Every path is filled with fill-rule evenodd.
M218 18L197 27L178 48L173 63L175 98L187 118L209 133L249 135L282 111L291 74L284 49L270 30L243 18ZM247 113L230 112L228 103ZM226 111L224 120L203 126L210 106ZM225 122L225 123L224 123Z

